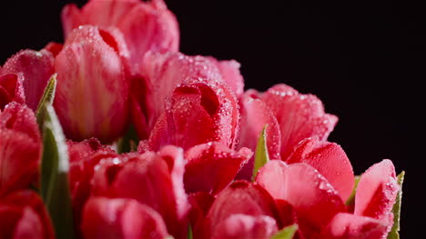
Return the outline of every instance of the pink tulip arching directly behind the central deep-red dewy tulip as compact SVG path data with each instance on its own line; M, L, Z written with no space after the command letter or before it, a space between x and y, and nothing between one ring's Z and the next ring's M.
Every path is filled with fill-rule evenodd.
M165 102L177 85L189 77L226 83L236 94L244 82L236 61L218 61L208 56L148 52L142 65L143 77L132 82L132 120L140 138L145 139L166 109Z

